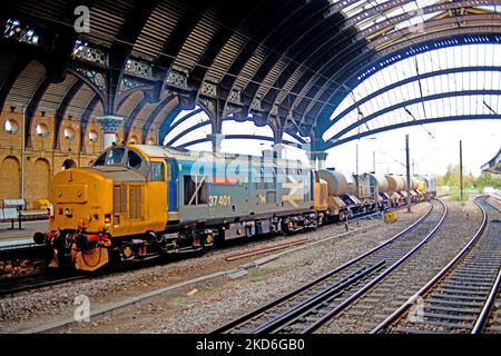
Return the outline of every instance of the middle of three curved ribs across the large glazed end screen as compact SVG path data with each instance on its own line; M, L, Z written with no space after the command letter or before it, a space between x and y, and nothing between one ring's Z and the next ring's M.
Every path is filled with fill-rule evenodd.
M375 119L386 112L394 111L396 109L404 108L410 105L420 103L423 101L430 101L430 100L436 100L436 99L443 99L443 98L450 98L450 97L468 97L468 96L501 96L501 90L461 90L461 91L449 91L449 92L442 92L436 95L426 96L423 98L415 98L407 101L402 101L396 105L393 105L391 107L386 107L380 111L373 112L370 116L363 118L362 120L357 120L356 122L345 127L340 132L335 134L333 137L328 138L326 141L332 141L335 139L338 139L344 134L350 132L351 130L357 128L358 126L371 121L372 119ZM419 120L416 120L419 121ZM413 121L415 122L415 121Z

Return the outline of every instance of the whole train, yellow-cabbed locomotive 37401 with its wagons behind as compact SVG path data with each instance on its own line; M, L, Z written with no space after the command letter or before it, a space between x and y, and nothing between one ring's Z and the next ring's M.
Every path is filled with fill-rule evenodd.
M114 145L92 167L55 175L49 231L33 239L52 247L51 267L92 271L399 205L405 184L392 187L394 178L316 171L273 156ZM431 194L419 179L412 188L414 200Z

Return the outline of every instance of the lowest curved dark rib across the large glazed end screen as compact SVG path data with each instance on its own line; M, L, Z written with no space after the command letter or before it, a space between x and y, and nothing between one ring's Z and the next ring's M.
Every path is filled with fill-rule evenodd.
M461 115L461 116L448 116L448 117L441 117L441 118L432 118L432 119L425 119L425 120L411 120L411 121L395 123L395 125L390 125L390 126L384 126L384 127L380 127L380 128L374 129L374 130L370 130L370 131L361 132L361 134L357 134L357 135L353 135L353 136L350 136L350 137L336 140L335 142L326 144L323 147L323 149L324 150L325 149L330 149L330 148L340 146L342 144L346 144L346 142L360 139L362 137L366 137L366 136L371 136L371 135L375 135L375 134L380 134L380 132L384 132L384 131L390 131L390 130L394 130L394 129L400 129L400 128L403 128L403 127L424 125L424 123L446 122L446 121L464 121L464 120L501 120L501 116L493 115L493 113Z

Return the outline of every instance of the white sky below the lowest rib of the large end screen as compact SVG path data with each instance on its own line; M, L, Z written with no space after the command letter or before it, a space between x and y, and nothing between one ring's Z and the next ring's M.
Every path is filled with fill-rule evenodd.
M410 158L411 162L414 161L416 175L441 176L446 172L448 165L459 165L459 141L462 140L463 171L479 176L481 166L501 148L501 120L429 123L362 138L358 144L358 171L373 170L375 151L376 172L405 174L405 135L409 135ZM356 142L328 150L326 166L355 172Z

